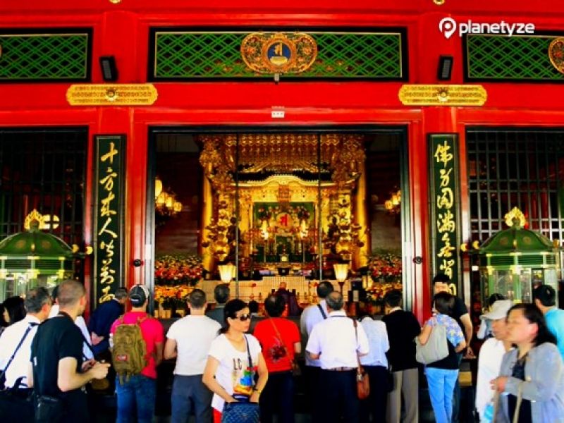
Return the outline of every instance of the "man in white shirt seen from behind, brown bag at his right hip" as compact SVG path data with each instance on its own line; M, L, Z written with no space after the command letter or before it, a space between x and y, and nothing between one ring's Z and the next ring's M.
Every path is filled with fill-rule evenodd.
M314 405L323 422L358 422L356 373L358 357L369 352L362 325L355 324L343 310L343 295L333 291L326 297L329 316L312 329L306 351L319 360L319 394ZM342 413L342 416L339 414Z

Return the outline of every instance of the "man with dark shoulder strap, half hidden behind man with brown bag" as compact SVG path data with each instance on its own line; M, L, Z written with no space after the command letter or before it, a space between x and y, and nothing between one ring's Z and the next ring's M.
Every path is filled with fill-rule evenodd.
M307 344L309 333L312 333L313 327L320 321L324 321L329 314L325 298L333 292L333 284L329 281L321 281L317 286L317 296L321 300L317 305L306 307L300 317L300 333L302 334L303 344ZM305 355L304 377L306 383L306 392L308 396L307 402L314 406L317 404L317 386L319 381L319 369L321 369L319 360L313 360L309 355ZM316 408L312 409L312 422L321 423Z

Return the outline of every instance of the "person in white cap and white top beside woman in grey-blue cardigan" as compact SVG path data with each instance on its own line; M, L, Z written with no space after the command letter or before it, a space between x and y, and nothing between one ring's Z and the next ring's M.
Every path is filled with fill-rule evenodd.
M489 338L478 355L478 378L476 383L476 410L483 421L486 405L494 396L490 381L499 375L501 360L506 351L510 350L511 343L505 341L508 335L507 312L513 306L511 300L498 300L491 305L489 313L483 314L482 319L491 320L491 331L494 338ZM484 322L485 324L485 322Z

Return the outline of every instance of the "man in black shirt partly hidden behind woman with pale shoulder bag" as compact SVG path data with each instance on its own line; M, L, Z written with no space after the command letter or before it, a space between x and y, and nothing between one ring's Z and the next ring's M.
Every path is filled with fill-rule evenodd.
M450 277L446 274L437 274L433 278L433 290L435 294L438 293L451 293L450 292ZM452 294L452 293L451 293ZM476 358L472 348L470 347L470 341L472 341L472 335L474 334L474 329L472 328L472 319L470 319L470 314L468 314L468 309L462 301L462 298L455 296L453 313L450 315L456 320L464 337L466 339L466 354L465 358ZM458 365L462 362L463 353L458 353ZM458 379L456 379L456 385L454 387L454 398L453 398L453 423L458 423L458 410L460 408L460 384Z

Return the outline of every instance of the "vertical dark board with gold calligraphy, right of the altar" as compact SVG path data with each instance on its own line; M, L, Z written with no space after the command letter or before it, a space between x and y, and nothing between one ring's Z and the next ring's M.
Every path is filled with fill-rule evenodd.
M460 295L460 185L458 135L429 135L431 251L433 275L450 276L450 293Z

